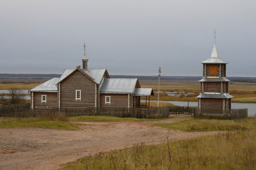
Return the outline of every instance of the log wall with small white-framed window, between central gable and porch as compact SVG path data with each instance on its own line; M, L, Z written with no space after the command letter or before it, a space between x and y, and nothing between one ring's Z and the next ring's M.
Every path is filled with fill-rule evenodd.
M110 104L105 104L105 96L110 96ZM128 94L100 94L100 107L128 107Z

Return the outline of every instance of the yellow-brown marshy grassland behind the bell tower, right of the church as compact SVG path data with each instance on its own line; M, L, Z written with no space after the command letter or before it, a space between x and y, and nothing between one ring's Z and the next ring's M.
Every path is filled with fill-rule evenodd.
M158 81L152 80L150 82L145 82L141 80L142 88L153 88L154 91L158 91ZM160 91L186 91L195 93L194 95L189 95L185 97L181 95L180 97L168 96L167 93L160 93L161 101L191 101L197 102L197 97L200 92L200 82L194 80L162 80L160 84ZM232 102L239 103L256 103L256 83L242 83L235 82L233 84L229 84L229 92L234 96L232 98ZM155 93L155 96L150 97L150 100L157 100L158 94ZM143 97L142 99L145 100Z

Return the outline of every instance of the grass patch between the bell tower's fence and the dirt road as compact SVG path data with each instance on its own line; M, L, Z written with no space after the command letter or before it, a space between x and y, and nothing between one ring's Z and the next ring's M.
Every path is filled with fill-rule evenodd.
M256 129L256 117L236 120L191 119L175 123L153 124L152 126L184 130L187 132Z

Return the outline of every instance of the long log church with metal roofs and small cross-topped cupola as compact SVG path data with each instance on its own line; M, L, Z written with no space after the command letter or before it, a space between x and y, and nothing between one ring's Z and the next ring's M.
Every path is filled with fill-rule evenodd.
M152 88L141 88L138 79L113 79L107 69L89 69L88 58L82 68L65 69L61 77L52 78L30 90L31 108L150 107ZM148 104L141 104L141 97Z

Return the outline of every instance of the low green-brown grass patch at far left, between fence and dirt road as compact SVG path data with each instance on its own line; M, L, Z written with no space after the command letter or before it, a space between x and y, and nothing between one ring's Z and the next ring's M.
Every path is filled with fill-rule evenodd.
M49 129L65 129L65 130L79 130L78 124L57 121L57 120L43 120L39 118L13 118L1 117L0 128L19 128L19 127L33 127L33 128L49 128Z

